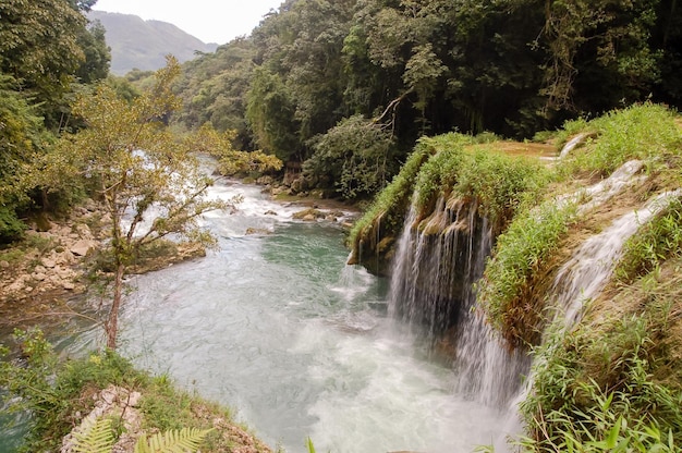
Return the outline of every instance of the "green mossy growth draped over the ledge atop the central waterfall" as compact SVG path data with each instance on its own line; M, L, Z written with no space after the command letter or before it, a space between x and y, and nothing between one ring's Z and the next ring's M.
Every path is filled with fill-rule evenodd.
M439 197L468 198L501 230L524 199L548 181L537 160L496 152L495 145L466 149L474 143L478 142L454 133L422 138L403 170L351 231L352 261L375 259L381 237L399 236L411 203L419 221L431 215Z

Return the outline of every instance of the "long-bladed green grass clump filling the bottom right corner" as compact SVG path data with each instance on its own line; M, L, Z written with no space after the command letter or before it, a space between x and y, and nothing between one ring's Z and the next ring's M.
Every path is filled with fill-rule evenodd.
M661 378L672 304L651 304L564 333L536 351L534 380L522 403L523 452L679 452L682 389Z

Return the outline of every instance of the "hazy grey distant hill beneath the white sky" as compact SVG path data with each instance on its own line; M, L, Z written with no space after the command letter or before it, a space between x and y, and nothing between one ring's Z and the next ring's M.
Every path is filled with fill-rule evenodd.
M212 52L218 45L205 44L173 24L144 21L132 14L90 11L88 19L99 21L107 29L111 48L111 72L123 75L133 69L154 71L166 65L172 53L180 62L192 60L196 51Z

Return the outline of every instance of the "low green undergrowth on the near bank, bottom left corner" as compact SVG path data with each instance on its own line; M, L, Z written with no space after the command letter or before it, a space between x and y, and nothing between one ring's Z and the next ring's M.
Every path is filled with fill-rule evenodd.
M228 452L240 446L238 440L220 429L236 426L229 409L178 390L167 376L151 377L139 371L112 351L60 358L39 331L17 331L15 338L21 356L2 347L0 388L7 390L2 394L5 407L32 414L22 452L59 451L62 438L94 408L93 395L109 385L142 393L138 411L145 433L211 430L202 451ZM214 429L216 420L223 420L218 429ZM124 430L120 420L113 419L112 424L117 437L120 436ZM269 450L264 446L258 451Z

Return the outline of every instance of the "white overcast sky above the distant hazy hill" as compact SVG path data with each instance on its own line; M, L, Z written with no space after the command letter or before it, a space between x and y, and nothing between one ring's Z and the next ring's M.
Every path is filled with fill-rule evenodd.
M93 8L135 14L144 20L170 22L203 40L226 44L249 35L282 0L98 0Z

